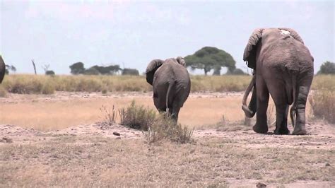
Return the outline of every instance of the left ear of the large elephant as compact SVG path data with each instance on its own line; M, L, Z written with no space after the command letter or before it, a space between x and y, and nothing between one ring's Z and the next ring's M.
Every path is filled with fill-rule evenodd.
M243 53L243 61L247 61L247 65L255 69L256 68L256 49L257 42L261 40L261 33L263 33L262 28L254 30L252 35L249 37L248 44L245 47L245 52Z

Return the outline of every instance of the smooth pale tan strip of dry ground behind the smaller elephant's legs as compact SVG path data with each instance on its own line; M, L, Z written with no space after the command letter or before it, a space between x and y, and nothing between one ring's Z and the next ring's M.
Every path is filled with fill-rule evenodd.
M12 95L10 98L0 98L1 124L16 124L21 127L57 130L78 124L90 124L103 120L100 107L105 105L115 111L125 108L136 100L136 104L155 109L151 93L130 94L119 93L110 95L86 93L64 94L65 96L51 95ZM63 95L63 94L62 94ZM74 96L72 96L74 95ZM244 118L241 107L242 95L223 98L204 98L202 95L189 97L180 110L179 122L189 127L201 127L207 124L216 124L223 114L229 122ZM18 118L20 117L20 118ZM119 115L116 121L120 122Z

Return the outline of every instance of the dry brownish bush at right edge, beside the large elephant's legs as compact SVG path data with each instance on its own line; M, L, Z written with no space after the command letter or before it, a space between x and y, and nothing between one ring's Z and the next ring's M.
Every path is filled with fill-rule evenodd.
M317 90L310 95L309 101L315 117L326 119L332 124L335 123L334 90Z

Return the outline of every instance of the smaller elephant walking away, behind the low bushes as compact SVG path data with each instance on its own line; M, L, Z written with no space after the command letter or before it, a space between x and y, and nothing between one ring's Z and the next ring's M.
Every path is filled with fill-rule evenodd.
M153 102L157 110L167 112L177 122L180 108L191 89L184 59L154 59L146 69L146 81L153 86Z

